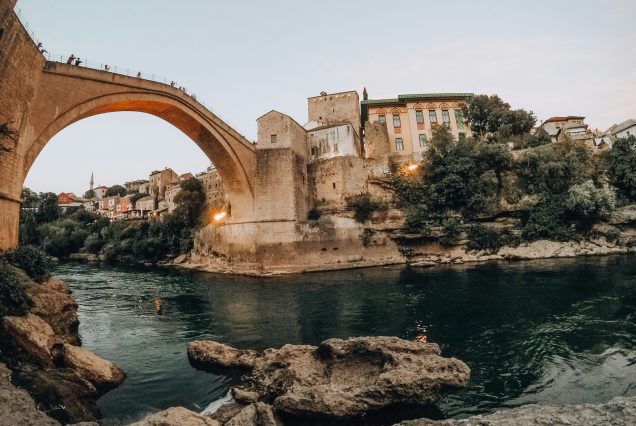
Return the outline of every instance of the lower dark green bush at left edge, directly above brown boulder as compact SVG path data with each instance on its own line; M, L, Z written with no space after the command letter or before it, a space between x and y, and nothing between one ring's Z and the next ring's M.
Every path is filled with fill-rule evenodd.
M30 285L23 273L0 259L0 318L26 314L33 304L27 293Z

